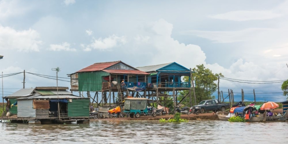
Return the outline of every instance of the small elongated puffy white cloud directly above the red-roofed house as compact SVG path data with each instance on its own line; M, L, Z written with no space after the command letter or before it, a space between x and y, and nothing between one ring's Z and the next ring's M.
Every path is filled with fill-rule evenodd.
M93 42L87 46L86 50L93 49L99 49L99 50L107 50L111 49L112 47L116 47L118 45L125 45L126 38L125 36L118 37L116 35L109 36L107 38L98 38L93 39Z

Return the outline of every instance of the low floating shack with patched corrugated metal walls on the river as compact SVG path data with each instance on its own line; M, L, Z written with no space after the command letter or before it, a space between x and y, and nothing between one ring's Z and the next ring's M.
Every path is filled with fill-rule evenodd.
M21 89L5 97L17 101L17 105L11 108L17 108L17 112L12 112L12 116L7 119L65 123L89 120L89 98L75 96L67 89L68 87Z

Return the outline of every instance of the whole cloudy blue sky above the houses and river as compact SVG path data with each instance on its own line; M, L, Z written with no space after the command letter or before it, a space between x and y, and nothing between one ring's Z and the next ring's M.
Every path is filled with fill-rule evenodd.
M219 90L225 97L232 89L235 101L241 89L246 101L253 89L256 101L285 101L287 7L283 0L0 0L0 86L3 96L23 88L24 70L25 88L56 86L57 67L58 86L70 88L67 74L96 62L177 62L222 73L229 79Z

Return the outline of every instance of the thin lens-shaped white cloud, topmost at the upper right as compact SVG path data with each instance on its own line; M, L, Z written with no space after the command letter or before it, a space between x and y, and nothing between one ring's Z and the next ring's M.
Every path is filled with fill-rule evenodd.
M231 11L224 14L216 14L208 16L214 19L224 19L231 21L249 21L249 20L264 20L281 17L283 14L274 13L272 11Z

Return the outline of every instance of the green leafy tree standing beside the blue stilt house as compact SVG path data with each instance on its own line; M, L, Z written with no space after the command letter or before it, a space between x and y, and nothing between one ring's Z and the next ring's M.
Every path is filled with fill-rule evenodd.
M195 95L196 95L196 103L199 103L205 99L215 99L213 93L217 90L217 84L215 81L218 80L218 77L224 77L222 73L214 74L210 69L204 67L203 64L197 65L196 68L193 68L195 73L192 73L192 77L195 80ZM185 82L189 82L189 77L185 76L183 79ZM192 104L194 104L193 98L193 90L192 92ZM188 91L180 92L181 95L187 95ZM179 97L178 100L182 100L183 97ZM190 102L190 98L186 97L183 100L184 105L188 105Z

